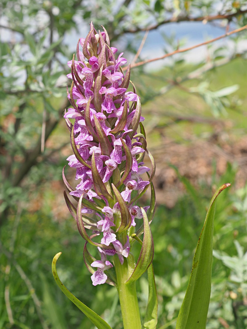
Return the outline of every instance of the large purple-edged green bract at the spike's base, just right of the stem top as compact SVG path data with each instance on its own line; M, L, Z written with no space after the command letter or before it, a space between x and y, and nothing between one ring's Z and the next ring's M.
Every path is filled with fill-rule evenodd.
M127 282L133 282L139 279L143 275L143 273L146 272L153 260L153 237L149 226L149 220L145 210L142 207L141 211L143 215L144 225L142 249L138 261L136 263L134 272L131 274Z

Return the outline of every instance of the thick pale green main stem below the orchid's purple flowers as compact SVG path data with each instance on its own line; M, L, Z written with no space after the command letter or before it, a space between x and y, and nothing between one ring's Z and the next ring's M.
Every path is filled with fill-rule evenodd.
M141 319L136 294L135 282L125 283L128 278L128 263L124 259L121 265L118 256L114 256L114 265L117 275L117 289L122 310L124 329L141 329Z

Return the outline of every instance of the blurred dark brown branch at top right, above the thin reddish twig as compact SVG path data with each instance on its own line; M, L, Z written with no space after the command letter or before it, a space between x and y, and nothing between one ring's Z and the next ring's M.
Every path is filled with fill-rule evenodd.
M137 27L136 29L129 29L129 30L124 30L123 33L136 33L140 31L151 31L157 29L159 26L164 25L164 24L169 24L169 23L178 23L178 22L202 22L202 21L213 21L217 19L228 19L231 21L233 17L236 17L238 15L242 15L247 13L247 9L245 10L237 10L235 13L231 14L218 14L218 15L212 15L212 16L199 16L199 17L189 17L188 15L184 16L177 16L177 17L171 17L169 19L165 19L155 25L152 25L150 27L144 27L144 28L139 28Z

